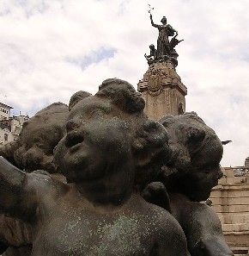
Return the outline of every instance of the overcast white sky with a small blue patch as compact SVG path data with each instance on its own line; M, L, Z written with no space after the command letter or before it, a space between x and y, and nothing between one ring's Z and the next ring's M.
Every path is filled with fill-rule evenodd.
M196 111L221 140L222 165L249 156L248 0L0 0L0 102L12 114L69 103L106 78L137 88L162 16L179 31L176 68Z

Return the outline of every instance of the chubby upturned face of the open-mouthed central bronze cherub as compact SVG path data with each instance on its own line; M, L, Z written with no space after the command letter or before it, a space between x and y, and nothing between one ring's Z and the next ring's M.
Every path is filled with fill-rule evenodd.
M58 168L69 182L104 178L133 161L131 128L121 114L100 97L82 99L71 109L66 134L55 152Z

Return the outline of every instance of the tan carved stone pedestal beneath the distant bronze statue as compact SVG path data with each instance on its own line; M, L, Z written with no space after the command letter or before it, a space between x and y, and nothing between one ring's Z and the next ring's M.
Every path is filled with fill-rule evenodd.
M180 103L185 112L187 89L181 83L172 63L151 64L143 79L137 84L146 102L145 113L155 120L171 114L179 115Z

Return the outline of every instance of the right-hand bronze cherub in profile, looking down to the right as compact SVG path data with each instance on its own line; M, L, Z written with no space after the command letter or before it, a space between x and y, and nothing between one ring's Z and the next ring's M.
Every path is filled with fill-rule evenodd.
M172 157L158 178L162 184L149 184L144 197L172 212L185 232L191 256L233 255L215 211L199 203L210 197L222 178L221 140L194 112L165 116L160 122L167 129Z

